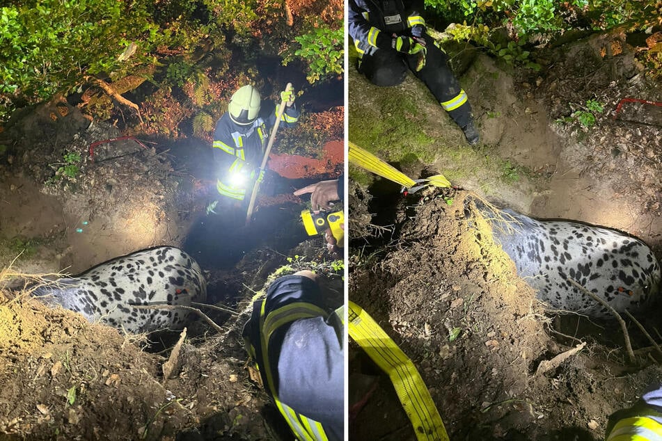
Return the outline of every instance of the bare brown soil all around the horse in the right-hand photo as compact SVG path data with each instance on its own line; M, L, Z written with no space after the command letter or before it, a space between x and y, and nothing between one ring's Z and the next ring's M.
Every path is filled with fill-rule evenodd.
M645 80L624 38L593 35L536 51L540 72L479 54L460 82L480 145L473 153L459 146L431 163L409 162L404 172L416 178L448 171L457 176L452 184L501 207L622 230L662 258L660 120L650 118L654 109L631 102L615 115L623 97L659 101L662 90ZM370 104L381 89L355 70L349 85L352 118L352 95ZM410 76L397 90L425 97L422 87ZM604 106L590 127L575 113L588 99ZM453 145L457 128L428 101L419 98L417 115L425 118L418 118L418 131ZM388 158L388 146L368 147ZM458 173L463 160L471 174ZM627 362L615 322L546 314L487 225L468 224L464 192L404 198L382 179L350 189L349 298L413 360L450 439L600 440L608 415L662 378L648 349L637 352L635 365ZM650 330L659 327L658 316L640 319ZM649 346L632 323L629 330L635 348ZM539 369L583 342L575 355ZM349 360L350 406L365 402L350 411L350 438L415 439L388 378L358 347Z

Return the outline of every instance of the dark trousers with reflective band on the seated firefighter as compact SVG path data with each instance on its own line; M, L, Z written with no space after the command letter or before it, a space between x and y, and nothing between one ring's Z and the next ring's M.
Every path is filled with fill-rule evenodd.
M459 85L457 78L448 67L448 56L434 44L429 35L425 35L425 67L416 72L418 54L402 54L393 49L371 48L359 60L358 71L376 86L397 86L411 70L420 81L425 83L436 100L442 104L448 115L457 125L464 128L471 120L471 105ZM464 102L463 98L464 97ZM459 106L448 105L454 101L462 102Z

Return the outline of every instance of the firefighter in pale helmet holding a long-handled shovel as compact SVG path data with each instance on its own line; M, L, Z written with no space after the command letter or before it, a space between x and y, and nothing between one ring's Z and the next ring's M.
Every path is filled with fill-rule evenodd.
M294 125L299 119L294 93L291 90L281 92L281 99L287 103L281 124ZM265 111L260 110L262 102L258 90L251 85L243 86L233 94L228 111L216 123L212 148L219 167L216 189L230 201L248 204L255 181L264 179L260 163L269 131L276 123L278 106L265 106Z

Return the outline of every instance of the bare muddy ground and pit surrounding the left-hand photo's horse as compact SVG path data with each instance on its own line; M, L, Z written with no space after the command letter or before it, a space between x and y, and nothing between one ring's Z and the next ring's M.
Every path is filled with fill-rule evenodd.
M334 130L342 127L342 107L326 113ZM132 134L90 124L64 99L3 132L10 148L0 156L0 438L274 439L278 418L249 379L241 330L251 299L279 268L287 274L314 262L324 291L342 302L333 259L321 237L306 235L305 200L292 195L338 176L342 142L320 134L324 148L314 158L281 154L276 144L269 191L244 226L221 207L207 213L217 199L210 143ZM235 311L205 311L220 333L191 323L170 376L163 366L179 332L122 335L19 294L38 275L77 274L158 245L187 250L207 277L210 303Z

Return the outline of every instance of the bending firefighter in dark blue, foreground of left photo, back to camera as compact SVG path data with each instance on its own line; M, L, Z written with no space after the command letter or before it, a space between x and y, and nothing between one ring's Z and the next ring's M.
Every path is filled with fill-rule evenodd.
M315 274L299 271L272 282L244 326L246 350L297 440L343 439L341 315L325 312Z

